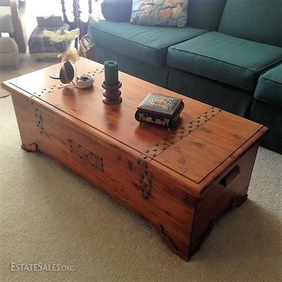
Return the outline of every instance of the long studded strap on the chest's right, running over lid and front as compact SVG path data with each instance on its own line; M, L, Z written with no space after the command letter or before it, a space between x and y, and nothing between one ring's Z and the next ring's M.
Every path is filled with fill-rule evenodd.
M219 114L221 110L212 106L208 111L204 111L203 114L197 116L197 118L189 121L181 128L172 131L171 135L163 138L163 140L157 144L152 145L144 150L142 154L137 158L137 164L142 168L140 176L140 185L137 187L142 190L142 196L145 199L149 199L151 196L152 188L152 173L148 170L149 161L152 161L154 157L157 157L161 152L164 152L168 147L176 144L176 142L182 140L185 136L192 133L201 125L207 123L214 116Z

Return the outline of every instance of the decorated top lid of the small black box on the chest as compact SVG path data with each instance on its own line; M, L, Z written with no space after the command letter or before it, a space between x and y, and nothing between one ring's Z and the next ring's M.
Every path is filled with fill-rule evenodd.
M149 93L137 109L157 114L173 116L178 111L182 99L163 94Z

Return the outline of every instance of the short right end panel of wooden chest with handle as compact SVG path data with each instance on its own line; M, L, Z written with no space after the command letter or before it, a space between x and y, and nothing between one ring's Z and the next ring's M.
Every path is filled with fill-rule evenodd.
M195 205L190 255L195 253L212 231L216 219L247 199L258 143L252 145L209 185Z

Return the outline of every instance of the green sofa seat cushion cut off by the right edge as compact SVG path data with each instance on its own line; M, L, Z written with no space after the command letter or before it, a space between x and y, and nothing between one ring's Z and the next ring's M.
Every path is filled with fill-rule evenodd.
M266 71L259 78L255 98L282 107L282 64Z

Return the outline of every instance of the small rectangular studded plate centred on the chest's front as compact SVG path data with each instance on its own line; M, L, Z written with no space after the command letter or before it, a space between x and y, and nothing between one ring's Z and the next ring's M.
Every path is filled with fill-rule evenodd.
M68 145L70 147L70 152L82 159L82 161L85 161L85 163L99 169L100 171L104 171L104 160L97 154L91 152L85 147L82 147L71 139L68 140Z

